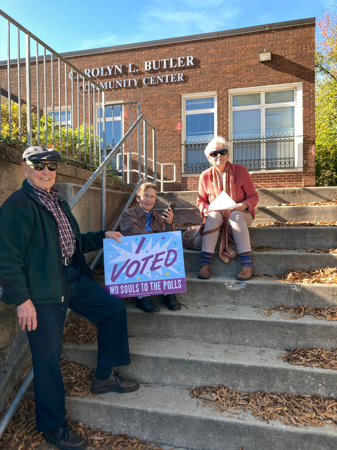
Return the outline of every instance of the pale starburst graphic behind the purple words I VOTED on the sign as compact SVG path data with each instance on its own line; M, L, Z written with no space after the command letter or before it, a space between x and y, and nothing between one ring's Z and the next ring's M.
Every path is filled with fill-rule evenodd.
M173 247L172 249L169 249L169 244L171 242L172 238L168 239L168 241L165 243L165 245L160 246L160 242L156 242L153 247L152 247L152 237L151 238L146 238L146 241L144 241L144 243L142 244L142 240L139 243L136 242L132 242L132 251L128 251L128 250L124 250L125 254L124 256L121 254L118 254L115 259L108 261L107 264L114 265L113 268L113 273L116 273L118 275L121 275L122 273L125 274L125 272L128 270L129 272L128 275L130 275L131 273L131 277L127 276L125 274L125 279L123 280L125 281L132 281L132 279L139 279L139 275L145 275L147 278L152 279L153 276L155 276L155 278L158 278L158 275L155 275L154 272L157 272L160 275L163 275L163 269L164 269L164 273L167 270L166 266L164 265L164 262L166 261L167 258L167 265L169 266L169 269L180 275L179 271L177 270L177 268L175 266L178 266L178 263L175 261L172 265L170 265L170 263L173 261L174 258L174 252L172 252L173 250L175 252L177 252L178 248L177 247ZM119 250L119 247L117 247L115 244L110 243L110 245L112 247L114 247L116 250ZM137 253L136 253L137 251ZM156 256L157 255L157 256ZM133 266L129 267L129 264L125 264L122 272L119 274L118 271L121 269L121 267L123 267L123 264L126 262L126 260L130 260L129 264L131 264L133 261L138 261L138 264L135 262L133 264ZM122 265L120 265L117 268L117 263L122 263ZM134 272L134 270L136 270L138 266L138 270L136 272ZM134 273L133 273L134 272ZM153 274L153 275L152 275ZM118 276L117 275L117 276ZM166 276L169 275L169 272L166 271L165 273ZM134 278L133 278L134 277Z

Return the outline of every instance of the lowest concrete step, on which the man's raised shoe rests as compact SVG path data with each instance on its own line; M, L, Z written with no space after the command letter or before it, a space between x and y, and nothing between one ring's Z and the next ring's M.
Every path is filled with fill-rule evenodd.
M178 387L141 387L129 394L106 393L93 398L66 397L71 420L112 433L128 432L146 441L188 446L195 450L333 450L332 426L292 428L280 421L261 422L250 413L214 413L196 407L188 391ZM233 417L235 416L235 417Z

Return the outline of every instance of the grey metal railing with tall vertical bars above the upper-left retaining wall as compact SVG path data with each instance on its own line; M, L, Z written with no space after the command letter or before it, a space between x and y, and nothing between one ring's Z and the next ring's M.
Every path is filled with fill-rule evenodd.
M44 144L44 147L48 147L48 144L51 144L52 148L58 148L60 154L62 154L62 145L65 145L66 148L66 157L68 158L68 154L71 153L72 157L70 159L75 159L75 146L78 146L78 160L81 162L81 158L83 157L84 162L87 160L87 150L89 150L89 164L93 162L96 166L96 158L101 162L101 152L97 155L98 147L101 148L101 128L95 131L95 120L96 120L96 105L98 105L98 123L100 124L101 118L103 121L103 147L105 147L105 92L106 90L99 85L97 82L93 81L92 78L89 78L88 75L80 71L74 64L70 63L66 58L63 58L60 54L58 54L55 50L53 50L49 45L47 45L44 41L40 40L37 36L35 36L31 31L27 30L27 28L23 27L20 23L6 14L4 11L0 9L0 17L7 20L7 92L8 92L8 122L9 122L9 138L12 138L12 93L11 90L14 85L17 86L18 90L18 130L19 130L19 139L22 141L22 117L21 117L21 104L26 103L26 111L27 111L27 144L32 145L32 90L31 90L31 72L35 70L33 73L33 79L36 75L36 116L37 116L37 144L40 145L40 138ZM10 59L10 40L11 40L11 32L10 32L10 24L16 27L16 38L17 38L17 58L11 60ZM20 58L20 31L25 34L25 58ZM31 58L31 40L35 41L35 58ZM39 45L43 47L43 56L39 55ZM34 46L33 46L34 48ZM46 78L46 61L49 60L49 55L46 55L47 52L50 52L50 76L51 76L51 90L49 91L48 86L48 102L47 102L47 78ZM35 60L36 64L32 64ZM56 60L57 67L54 69L54 60ZM39 61L43 61L43 64L39 64ZM25 83L21 85L21 76L20 76L20 64L25 62L26 64L26 80ZM61 62L64 63L61 65ZM11 64L17 63L17 77L14 76L14 84L13 84L13 67L11 72ZM5 65L5 64L4 64ZM42 67L40 67L40 65ZM69 77L71 79L68 80L68 71L70 69ZM43 76L40 76L40 70L43 72ZM62 70L64 70L64 75L62 75ZM55 74L54 74L55 71ZM74 77L74 73L77 75ZM71 76L70 76L71 74ZM17 81L16 81L17 78ZM74 88L74 80L77 80L77 85ZM41 87L40 87L41 81ZM57 82L56 82L57 81ZM71 86L68 88L68 82L71 83ZM23 84L25 84L26 89L26 99L22 99L22 90ZM61 87L62 84L62 87ZM83 86L83 99L80 100L80 85ZM4 86L2 86L4 87ZM88 89L86 89L88 88ZM58 90L58 95L57 95ZM90 90L93 90L93 93L90 94ZM97 101L96 103L96 93L97 93ZM71 95L71 103L68 103L68 91ZM77 93L76 93L77 91ZM81 92L82 92L81 91ZM40 94L44 97L44 101L41 99ZM86 93L88 95L86 95ZM82 94L81 94L82 95ZM54 96L58 97L58 106L54 106ZM74 98L77 98L77 101L74 101ZM87 97L87 99L86 99ZM102 97L102 98L100 98ZM64 103L63 103L64 102ZM102 102L102 114L101 114L101 102ZM42 105L42 103L44 103ZM47 110L47 103L48 108ZM62 104L63 103L63 104ZM1 100L0 100L1 104ZM44 108L44 139L42 137L43 130L40 129L42 125L40 125L40 109L43 106ZM78 137L75 143L75 107L77 108L77 133ZM65 142L62 142L61 137L61 115L62 111L66 111L66 136ZM82 123L80 123L80 110L82 116ZM71 130L72 134L68 136L68 111L71 112ZM55 120L55 113L58 113L58 121ZM48 138L48 116L52 117L52 141L49 142ZM83 146L80 144L80 126L83 126ZM91 134L91 129L94 126L93 136ZM89 128L88 128L89 127ZM89 130L89 139L86 139L86 133ZM58 135L57 135L58 133ZM0 118L0 135L1 135L1 118ZM57 142L55 142L55 137L58 136ZM69 137L69 143L68 143ZM89 140L89 142L88 142ZM41 144L42 144L41 142ZM72 144L72 145L71 145ZM72 147L72 148L71 148ZM83 151L82 151L83 150ZM93 150L93 151L92 151Z

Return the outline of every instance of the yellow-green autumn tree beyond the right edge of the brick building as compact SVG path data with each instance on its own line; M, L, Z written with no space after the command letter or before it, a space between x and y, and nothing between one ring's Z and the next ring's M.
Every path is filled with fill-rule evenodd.
M317 20L316 185L337 186L337 6Z

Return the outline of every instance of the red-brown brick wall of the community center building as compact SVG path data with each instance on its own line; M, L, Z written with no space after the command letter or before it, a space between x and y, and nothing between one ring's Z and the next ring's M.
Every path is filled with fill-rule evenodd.
M260 51L270 50L272 61L258 62ZM182 67L181 70L160 69L145 72L144 62L163 58L193 55L194 66ZM184 81L155 85L138 82L137 87L108 89L106 101L140 101L141 111L157 126L157 160L175 162L177 165L177 182L166 184L165 190L185 190L195 186L195 177L182 177L182 94L199 92L217 92L217 134L228 138L228 90L263 85L279 85L302 82L303 86L303 172L279 172L254 174L257 187L314 186L315 185L315 24L298 25L279 29L256 31L211 39L162 44L136 49L118 50L100 54L88 54L68 57L76 67L105 67L112 64L133 63L138 69L137 76L118 73L98 77L95 81L129 79L137 77L140 81L145 76L171 75L184 73ZM61 64L61 78L64 79L64 67ZM50 87L50 63L47 78ZM57 78L57 63L54 63ZM25 67L22 66L22 79L25 79ZM13 65L12 86L15 90L15 71ZM136 73L136 72L135 72ZM7 85L6 68L0 67L1 86ZM32 94L36 96L35 63L32 65ZM170 80L170 77L168 77ZM43 104L43 64L40 63L40 102ZM74 83L76 87L76 83ZM68 92L71 82L68 77ZM65 103L62 91L62 105ZM80 96L80 99L82 97ZM33 98L33 103L36 99ZM55 94L55 105L58 94ZM48 98L48 106L51 99ZM70 104L70 95L68 105ZM149 142L150 144L150 142ZM151 148L151 147L150 147ZM167 178L172 178L172 171L166 169Z

